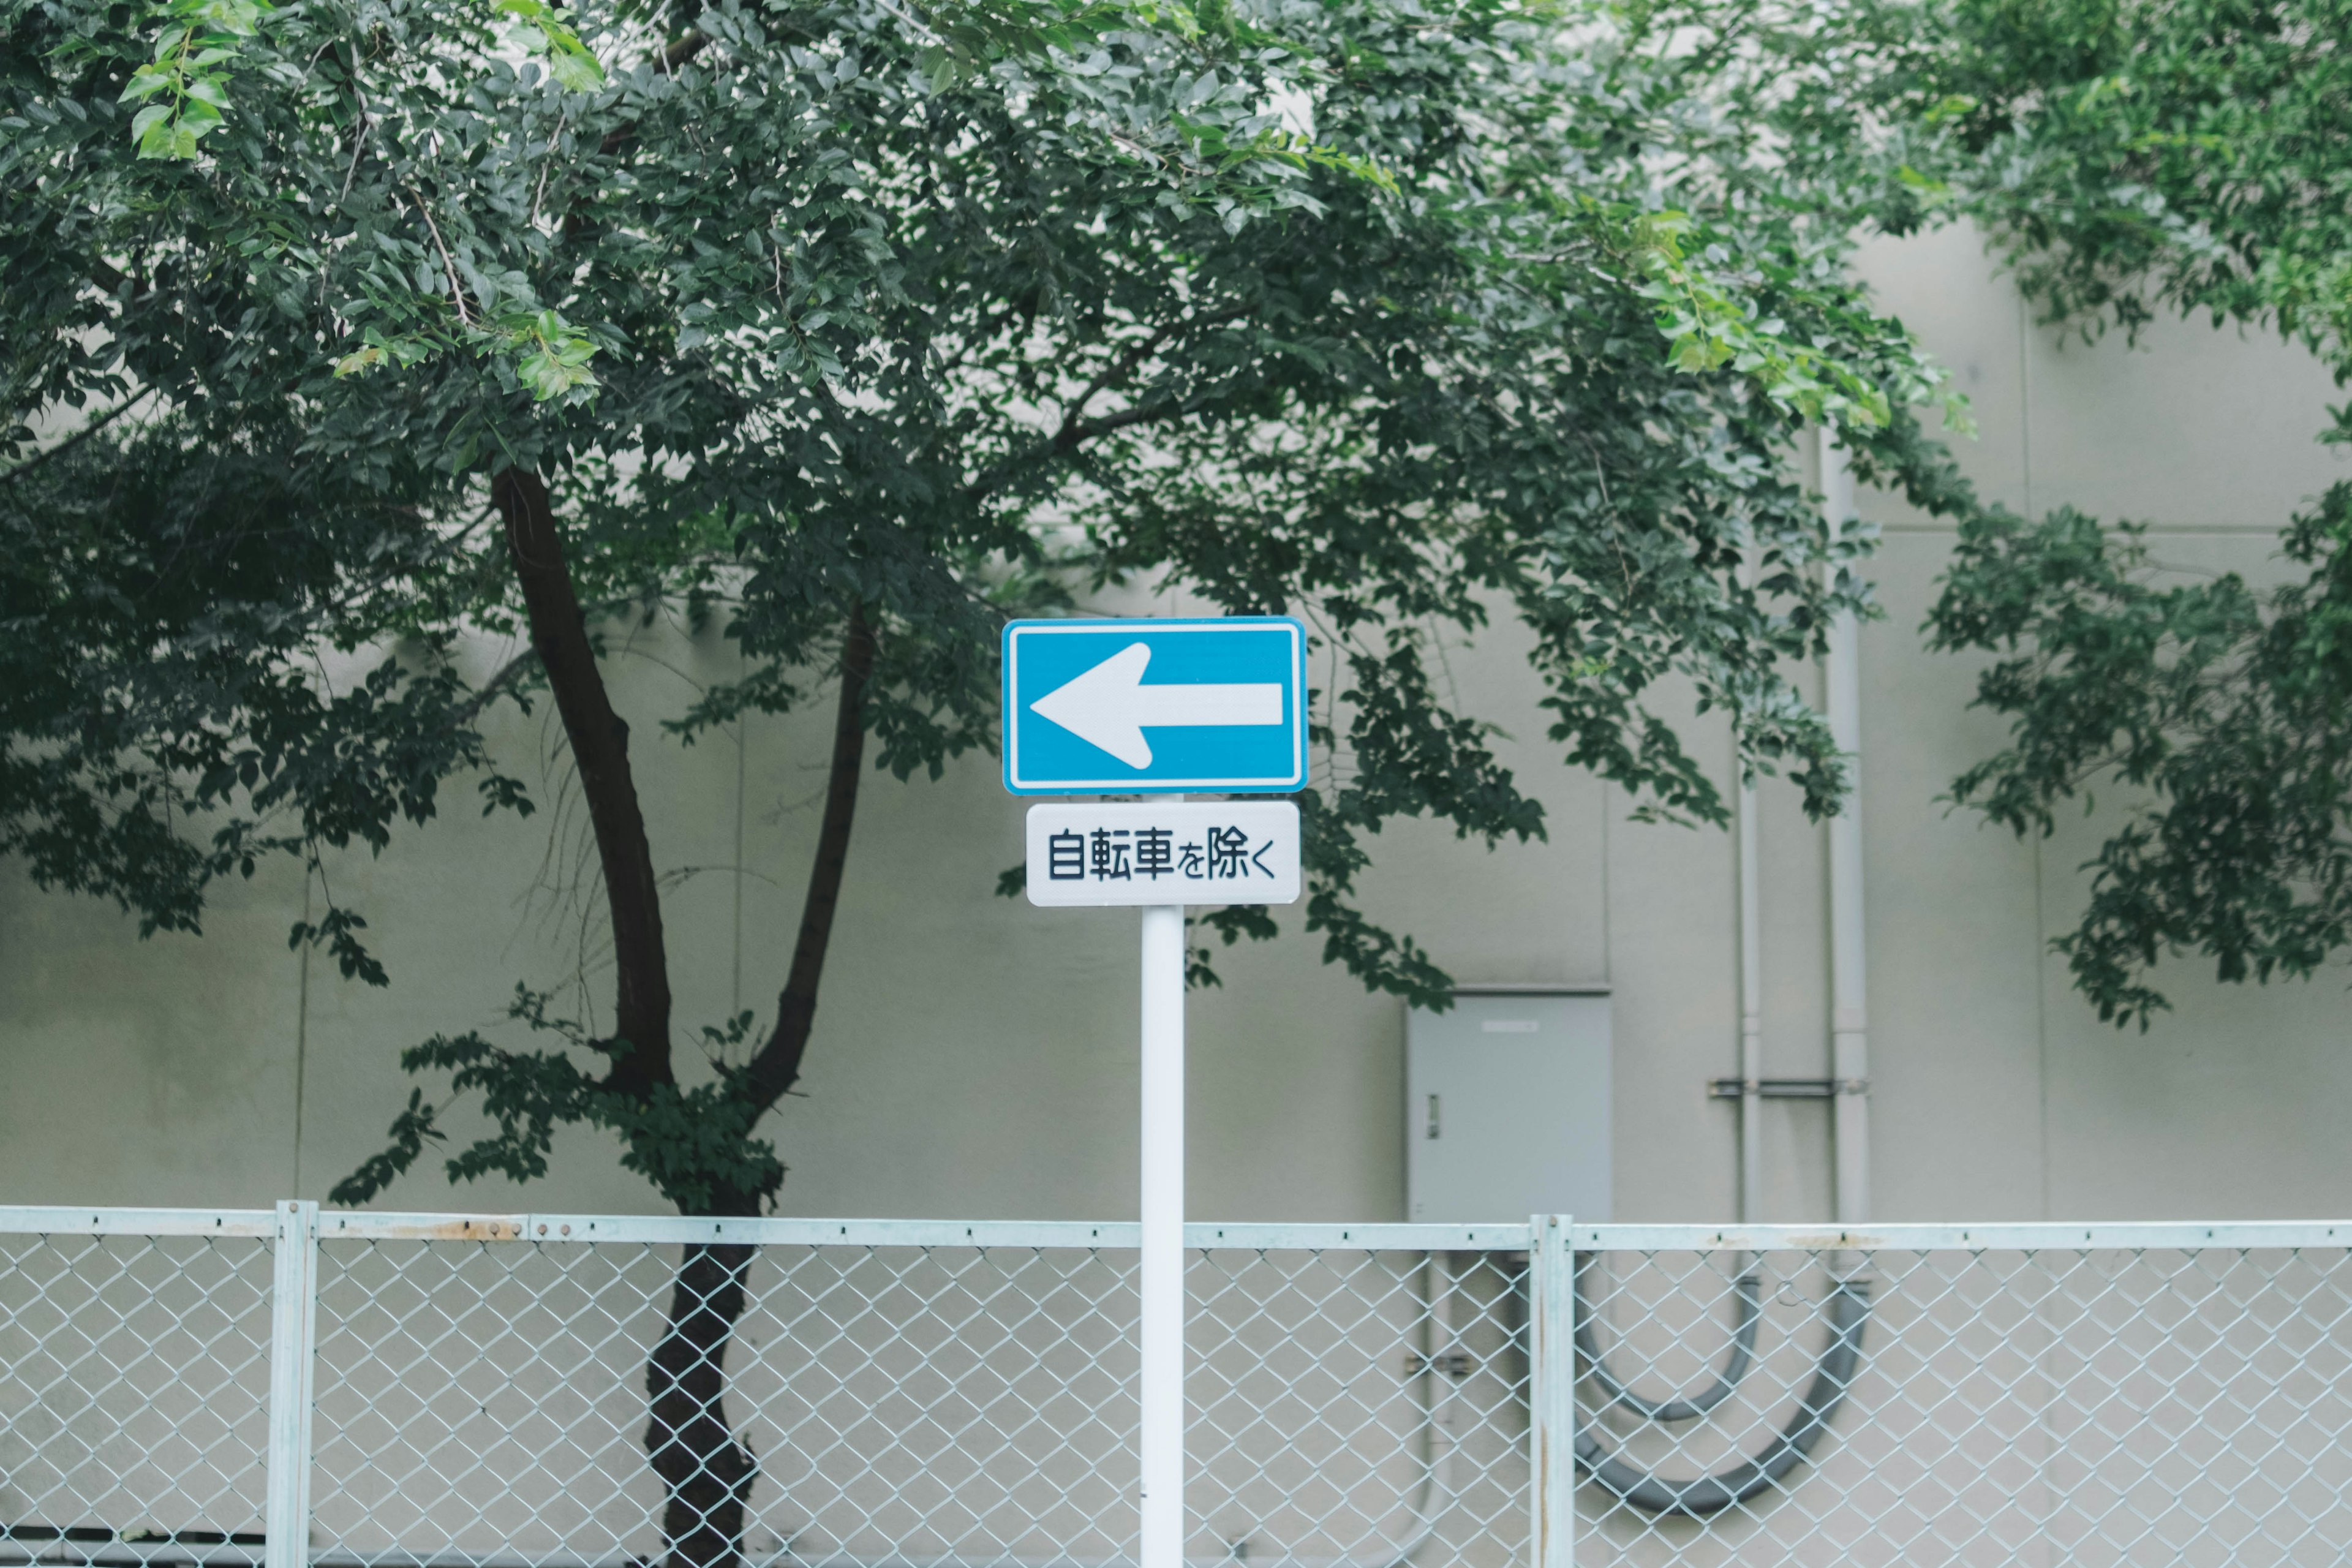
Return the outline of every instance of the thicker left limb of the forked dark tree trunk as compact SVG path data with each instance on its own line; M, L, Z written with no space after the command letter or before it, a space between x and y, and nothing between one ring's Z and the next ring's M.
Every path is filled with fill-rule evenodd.
M572 743L588 823L595 827L612 910L614 1041L607 1088L644 1095L675 1081L670 1067L670 959L661 936L661 884L644 837L644 809L628 766L628 724L612 710L588 642L562 529L536 473L508 468L489 482L506 517L506 552L522 585L532 646L548 672L555 712ZM626 1041L626 1048L621 1048Z

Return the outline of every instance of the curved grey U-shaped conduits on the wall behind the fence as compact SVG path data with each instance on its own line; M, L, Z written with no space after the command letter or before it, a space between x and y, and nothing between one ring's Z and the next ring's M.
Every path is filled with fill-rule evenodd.
M1715 1375L1715 1382L1691 1399L1644 1399L1609 1371L1609 1361L1599 1352L1599 1338L1592 1333L1592 1312L1585 1307L1583 1298L1588 1258L1590 1253L1578 1253L1571 1267L1576 1279L1576 1352L1585 1359L1592 1382L1599 1385L1611 1406L1623 1406L1646 1420L1670 1422L1705 1415L1731 1396L1731 1389L1736 1389L1755 1366L1757 1319L1762 1316L1764 1302L1752 1267L1745 1269L1733 1284L1733 1293L1740 1302L1738 1321L1731 1331L1731 1354L1724 1359L1724 1371ZM1832 1281L1828 1314L1830 1342L1813 1363L1813 1380L1806 1385L1804 1399L1797 1401L1797 1410L1788 1418L1788 1425L1780 1427L1780 1432L1759 1453L1731 1465L1729 1469L1719 1469L1712 1476L1675 1481L1670 1476L1639 1469L1609 1453L1590 1427L1578 1425L1578 1469L1637 1509L1649 1514L1677 1514L1684 1519L1719 1514L1722 1509L1748 1502L1764 1488L1776 1486L1788 1472L1797 1469L1797 1465L1813 1453L1820 1434L1830 1429L1830 1418L1837 1415L1837 1406L1846 1401L1846 1389L1853 1387L1853 1373L1863 1359L1863 1324L1870 1316L1870 1286L1860 1279Z

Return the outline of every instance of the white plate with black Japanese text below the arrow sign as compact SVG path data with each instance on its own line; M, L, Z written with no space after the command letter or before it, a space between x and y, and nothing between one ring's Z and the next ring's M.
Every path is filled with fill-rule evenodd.
M1298 806L1044 802L1028 816L1028 896L1049 910L1298 903Z

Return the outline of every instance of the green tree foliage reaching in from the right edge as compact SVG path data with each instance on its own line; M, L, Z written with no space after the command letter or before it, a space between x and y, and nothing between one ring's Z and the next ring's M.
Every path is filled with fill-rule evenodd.
M1856 26L1884 49L1858 96L1898 127L1893 207L1978 219L2049 320L2206 315L2352 376L2352 7L1940 0ZM2319 440L2352 440L2352 407ZM2074 510L1964 522L1929 635L1994 656L1978 705L2011 743L1955 797L2020 835L2129 802L2056 938L2103 1018L2147 1027L2166 957L2267 980L2352 943L2347 541L2352 484L2286 522L2274 588L2169 571Z

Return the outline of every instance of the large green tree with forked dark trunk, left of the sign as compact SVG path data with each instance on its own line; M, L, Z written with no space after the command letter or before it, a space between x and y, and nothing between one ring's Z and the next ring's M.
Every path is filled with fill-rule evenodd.
M760 1124L811 1039L868 748L910 778L988 745L1002 618L1117 581L1315 623L1338 675L1305 926L1376 987L1446 987L1357 907L1383 823L1543 832L1432 679L1435 625L1522 621L1552 743L1646 813L1724 820L1670 677L1743 766L1837 802L1780 668L1867 609L1867 538L1823 527L1788 449L1830 421L1933 498L1910 404L1936 378L1849 282L1823 193L1726 127L1771 82L1745 42L1498 0L188 5L7 12L0 527L31 548L0 578L28 693L0 708L5 846L193 926L212 877L383 849L459 773L529 809L475 726L546 698L612 938L604 1020L517 990L515 1034L409 1048L437 1093L341 1201L473 1095L456 1180L536 1178L600 1126L684 1213L767 1206ZM99 428L134 404L132 435ZM75 409L68 447L33 437ZM835 715L776 1006L699 1039L600 665L663 604L720 616L746 672L640 722ZM529 654L466 679L506 630ZM322 649L365 679L329 686ZM386 980L332 898L294 940ZM687 1248L649 1356L677 1568L741 1549L748 1267Z

